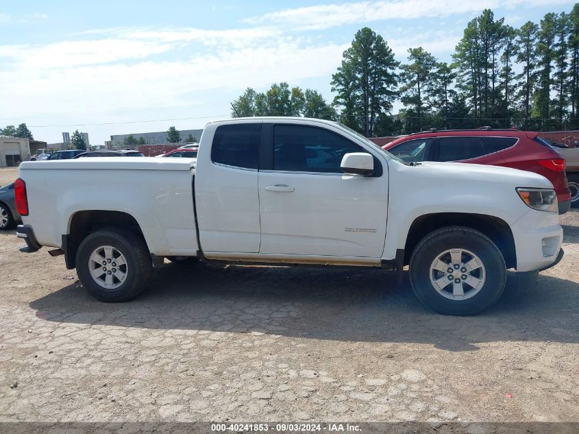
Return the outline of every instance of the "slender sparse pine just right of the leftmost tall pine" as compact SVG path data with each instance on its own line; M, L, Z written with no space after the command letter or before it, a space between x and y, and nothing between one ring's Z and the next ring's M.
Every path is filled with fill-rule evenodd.
M428 105L428 83L431 82L432 73L436 67L436 58L425 51L422 47L409 48L408 60L412 63L403 64L400 68L400 80L404 83L399 89L402 94L400 101L404 106L412 109L415 115L411 126L406 127L407 131L421 131L423 118L430 113Z

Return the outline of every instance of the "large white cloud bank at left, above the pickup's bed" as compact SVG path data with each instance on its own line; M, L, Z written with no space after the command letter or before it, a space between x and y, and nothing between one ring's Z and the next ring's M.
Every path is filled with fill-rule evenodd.
M8 69L0 68L0 82L8 84L3 98L11 101L0 106L0 123L14 123L9 119L19 115L29 125L227 115L228 101L247 86L264 88L280 81L298 84L315 77L328 81L346 48L288 38L275 29L261 28L204 33L195 29L125 29L105 35L111 37L0 46L0 57L10 60ZM164 60L151 57L157 53L164 53ZM212 93L221 95L217 101L227 102L212 104L217 98ZM206 107L170 113L154 110L156 106L190 107L205 102L203 98L210 103ZM151 110L135 112L144 108ZM91 141L102 143L115 131L166 130L166 124L104 125L86 130L96 132ZM191 123L187 125L190 128ZM36 138L58 141L59 132L70 129L33 128L33 132Z

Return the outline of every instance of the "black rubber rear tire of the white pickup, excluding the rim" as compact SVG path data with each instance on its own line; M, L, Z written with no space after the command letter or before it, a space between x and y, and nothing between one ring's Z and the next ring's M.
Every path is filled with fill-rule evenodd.
M107 289L90 275L90 255L99 247L110 245L123 254L126 277L119 287ZM123 302L143 291L151 276L153 261L142 237L128 230L105 228L93 232L80 243L76 254L76 269L80 282L88 292L103 302Z

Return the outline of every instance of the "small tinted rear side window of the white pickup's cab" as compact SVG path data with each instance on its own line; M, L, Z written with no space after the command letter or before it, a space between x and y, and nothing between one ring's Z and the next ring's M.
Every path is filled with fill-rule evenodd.
M211 147L212 162L257 169L260 134L260 123L238 123L217 127Z

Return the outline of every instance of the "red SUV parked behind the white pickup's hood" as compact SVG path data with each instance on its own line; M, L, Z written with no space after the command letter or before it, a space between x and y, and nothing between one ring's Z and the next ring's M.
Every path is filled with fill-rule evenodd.
M543 141L538 132L488 127L478 130L432 129L397 138L383 148L406 162L470 162L539 173L555 188L559 214L567 213L571 206L565 158Z

